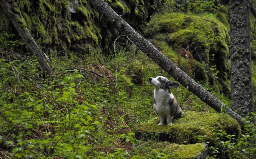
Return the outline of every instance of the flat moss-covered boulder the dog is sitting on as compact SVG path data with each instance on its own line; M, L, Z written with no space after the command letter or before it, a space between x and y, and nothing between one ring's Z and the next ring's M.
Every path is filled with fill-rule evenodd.
M186 111L184 118L174 120L170 126L157 126L159 118L156 117L148 122L134 127L137 139L157 139L172 143L200 143L209 142L214 145L216 133L224 132L229 135L240 136L240 125L230 116L221 113Z

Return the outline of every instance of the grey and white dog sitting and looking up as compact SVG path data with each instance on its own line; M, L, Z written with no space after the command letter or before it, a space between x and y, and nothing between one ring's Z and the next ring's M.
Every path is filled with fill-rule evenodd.
M181 107L170 90L177 88L179 84L169 81L163 76L151 77L149 83L155 87L154 109L160 118L160 123L157 125L163 125L164 123L171 125L173 119L183 117Z

